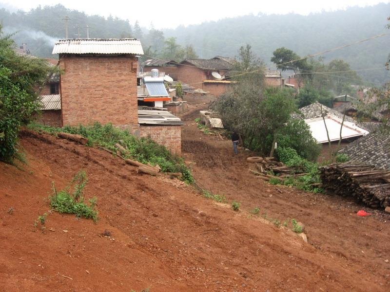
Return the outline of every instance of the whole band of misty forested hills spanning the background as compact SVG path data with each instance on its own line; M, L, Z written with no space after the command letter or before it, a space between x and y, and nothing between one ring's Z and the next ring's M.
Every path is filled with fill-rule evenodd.
M389 15L390 3L382 3L309 16L248 15L161 31L141 29L136 24L137 19L88 16L62 5L39 6L29 12L11 13L0 9L0 20L5 31L19 31L13 38L18 45L26 42L33 55L51 56L55 39L65 37L62 18L69 16L69 37L78 37L78 31L80 37L86 37L88 25L89 37L137 37L141 39L147 55L159 57L164 57L164 44L167 46L164 41L168 37L176 37L177 43L183 47L193 45L195 53L204 58L235 56L240 46L249 43L254 53L264 59L270 68L273 66L270 61L272 53L279 47L284 46L304 56L390 33L386 28ZM170 41L172 45L172 39ZM380 85L390 80L389 71L382 69L390 53L389 44L390 34L321 56L325 58L325 63L335 58L344 59L352 69L361 70L358 73L365 80Z

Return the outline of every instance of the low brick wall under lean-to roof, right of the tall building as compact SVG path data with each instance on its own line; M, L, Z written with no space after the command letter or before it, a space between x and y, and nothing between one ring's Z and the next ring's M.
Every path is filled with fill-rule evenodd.
M173 153L181 154L181 126L140 126L141 137L150 137Z

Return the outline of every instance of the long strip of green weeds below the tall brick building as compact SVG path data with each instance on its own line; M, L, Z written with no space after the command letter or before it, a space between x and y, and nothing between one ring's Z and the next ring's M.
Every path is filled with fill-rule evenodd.
M158 164L163 172L180 172L181 180L186 183L194 183L194 178L190 169L184 163L184 159L176 154L172 154L165 146L159 145L150 138L137 138L127 130L121 130L112 124L101 125L95 123L93 126L78 126L55 128L42 126L39 124L30 124L28 128L35 131L47 132L56 135L58 132L78 134L88 139L88 146L102 146L117 152L114 146L121 144L128 150L129 154L124 158L137 160L143 164Z

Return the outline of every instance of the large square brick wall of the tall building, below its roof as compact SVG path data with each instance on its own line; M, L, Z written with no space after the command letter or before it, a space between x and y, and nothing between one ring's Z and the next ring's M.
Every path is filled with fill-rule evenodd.
M97 121L120 128L137 128L135 57L60 55L59 62L64 70L60 79L63 125L88 125Z

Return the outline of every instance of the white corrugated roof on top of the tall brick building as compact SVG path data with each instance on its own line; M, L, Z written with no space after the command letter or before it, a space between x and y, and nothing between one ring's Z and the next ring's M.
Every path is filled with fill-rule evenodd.
M60 39L52 54L140 54L143 55L139 39L76 38Z

